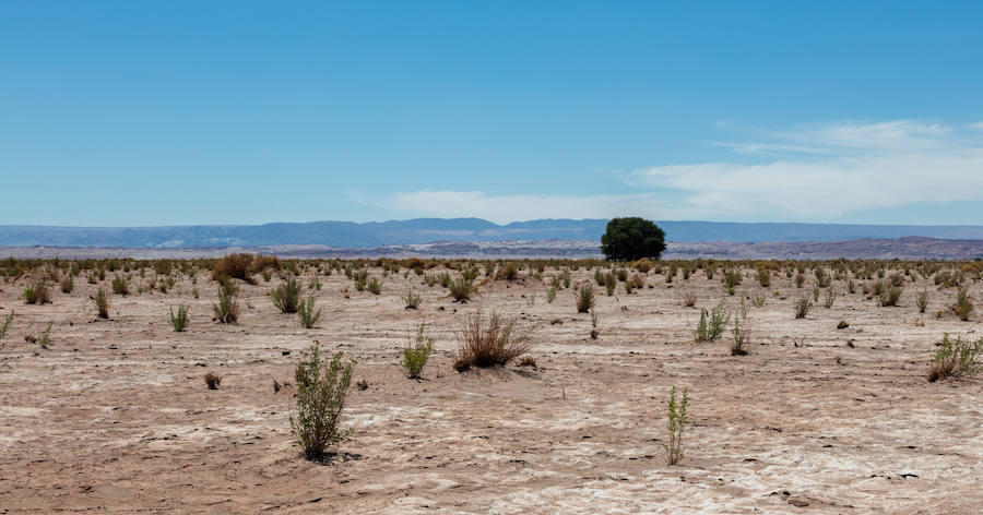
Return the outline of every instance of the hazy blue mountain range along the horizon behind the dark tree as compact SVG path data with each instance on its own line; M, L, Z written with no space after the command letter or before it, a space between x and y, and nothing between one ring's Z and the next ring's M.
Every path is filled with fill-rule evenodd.
M927 237L983 240L983 226L846 224L743 224L656 221L673 242L827 242L862 238ZM541 219L498 225L481 218L276 223L258 226L56 227L0 225L0 247L180 249L214 247L327 245L341 249L437 241L599 241L605 219Z

